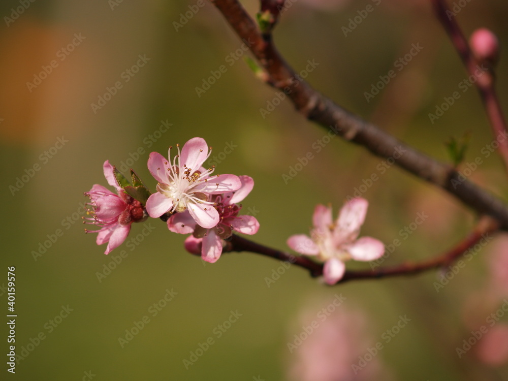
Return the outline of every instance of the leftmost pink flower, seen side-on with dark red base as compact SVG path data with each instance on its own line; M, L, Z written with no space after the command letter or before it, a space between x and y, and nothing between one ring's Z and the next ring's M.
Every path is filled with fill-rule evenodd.
M100 227L99 230L86 230L86 233L98 233L97 244L108 242L105 254L120 246L129 235L131 224L145 218L143 206L126 194L116 182L113 166L109 161L103 165L104 177L108 184L115 187L116 193L102 185L94 184L85 196L90 198L87 214L91 215L88 224Z

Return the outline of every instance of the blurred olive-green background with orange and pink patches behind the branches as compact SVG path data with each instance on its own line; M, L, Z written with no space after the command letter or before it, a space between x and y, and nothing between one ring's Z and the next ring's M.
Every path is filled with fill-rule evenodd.
M499 158L482 153L493 138L474 87L461 92L437 121L429 120L443 97L461 91L459 83L467 78L429 2L375 3L295 0L276 28L275 41L297 72L305 69L307 60L319 64L307 77L317 89L440 161L449 160L444 141L469 132L465 163L477 157L483 162L469 177L504 198L506 178ZM456 3L464 5L457 18L467 35L490 27L500 38L501 50L508 51L505 1ZM219 172L255 179L243 207L256 213L261 224L253 239L276 248L289 250L285 242L290 235L308 232L316 204L331 203L336 213L373 173L379 180L362 192L370 202L362 235L387 244L402 242L383 266L435 256L475 222L473 213L457 201L401 170L393 167L381 174L379 158L361 147L333 139L317 152L314 143L326 131L296 114L288 100L263 117L260 109L276 98L275 91L247 67L243 56L248 53L235 53L241 42L211 4L199 3L203 7L182 23L188 7L196 4L1 3L0 301L7 311L7 268L15 266L15 344L17 354L25 348L27 356L19 359L15 375L7 372L4 361L0 378L508 379L504 312L488 327L489 337L483 335L461 358L457 354L463 340L486 325L488 315L508 296L502 283L506 274L499 272L506 269L503 253L508 246L500 238L475 252L437 292L435 282L442 274L436 272L329 288L302 269L281 270L279 262L251 253L224 255L205 265L184 251L184 236L170 234L161 220L148 221L152 228L149 234L144 231L146 236L142 224L133 225L129 240L134 241L109 256L103 254L104 246L95 244L94 235L83 233L83 192L94 183L106 185L105 160L134 168L153 190L155 181L146 168L149 152L166 154L169 145L195 136L213 147ZM256 12L257 2L244 4L251 14ZM374 10L344 36L342 27L369 4ZM61 50L73 41L69 54ZM411 44L423 49L397 71L394 62ZM140 55L147 58L144 66L132 68ZM28 85L52 60L51 73L43 74L35 87ZM198 96L196 87L221 65L227 71ZM134 76L125 74L131 68ZM367 102L364 92L394 69L396 77ZM505 110L507 69L502 54L497 81ZM91 104L117 81L122 87L103 107L93 109ZM163 121L171 123L164 133ZM59 138L68 142L57 149ZM228 145L234 149L226 154ZM282 175L307 152L313 160L284 181ZM13 190L34 165L39 170ZM411 234L402 234L418 213L428 218ZM51 238L54 242L46 242ZM50 247L43 252L40 245L45 242ZM113 270L105 272L108 266ZM369 268L365 263L348 266ZM267 284L277 270L280 277ZM167 290L177 295L154 316L150 306ZM326 322L319 321L321 331L290 353L294 335L316 320L336 294L345 301ZM62 313L63 307L72 311ZM231 311L241 316L218 337L216 328ZM383 334L404 315L410 322L386 342ZM119 338L125 339L126 330L133 331L144 316L149 322L121 344ZM37 342L41 334L44 339ZM8 352L7 336L4 324L2 354ZM183 360L209 337L213 344L186 369ZM327 341L330 337L335 339ZM352 364L365 359L377 342L383 349L355 374ZM329 369L330 363L341 373L323 376L314 369Z

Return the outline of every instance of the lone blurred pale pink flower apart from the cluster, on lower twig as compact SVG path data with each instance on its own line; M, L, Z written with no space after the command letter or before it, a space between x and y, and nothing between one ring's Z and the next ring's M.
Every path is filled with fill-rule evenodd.
M332 208L317 205L310 237L304 234L291 236L288 239L289 247L325 261L325 281L335 284L344 275L344 261L373 261L385 253L383 242L371 237L357 239L368 205L368 201L362 198L346 202L335 223L332 221Z

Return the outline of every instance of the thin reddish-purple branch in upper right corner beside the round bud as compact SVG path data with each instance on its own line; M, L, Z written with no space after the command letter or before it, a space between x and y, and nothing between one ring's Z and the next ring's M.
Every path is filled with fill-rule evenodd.
M434 5L437 18L441 22L443 28L447 31L452 45L457 50L457 53L459 53L459 56L466 67L467 73L470 76L477 77L475 85L478 88L480 98L482 99L485 111L487 112L487 117L489 118L494 138L498 139L499 154L503 159L504 168L508 171L508 139L505 138L506 121L495 90L494 69L490 65L485 67L485 65L487 65L486 62L480 62L474 57L474 54L471 52L471 48L469 47L459 24L455 18L452 17L454 15L453 12L450 11L446 2L444 2L444 0L432 0L432 3ZM480 75L477 74L479 71L478 68L481 69Z

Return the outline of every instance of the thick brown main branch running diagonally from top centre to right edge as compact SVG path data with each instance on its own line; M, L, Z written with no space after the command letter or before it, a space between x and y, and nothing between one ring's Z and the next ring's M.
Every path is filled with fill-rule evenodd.
M475 185L452 166L439 163L428 155L402 143L375 125L336 105L296 77L295 71L284 61L270 35L262 34L256 23L237 0L210 0L224 15L236 34L248 41L249 49L268 76L268 82L287 94L296 109L307 119L331 129L345 140L367 148L371 153L395 159L406 171L435 184L480 215L496 218L508 230L508 207L498 198ZM298 78L298 79L297 79ZM394 157L396 150L404 152Z

